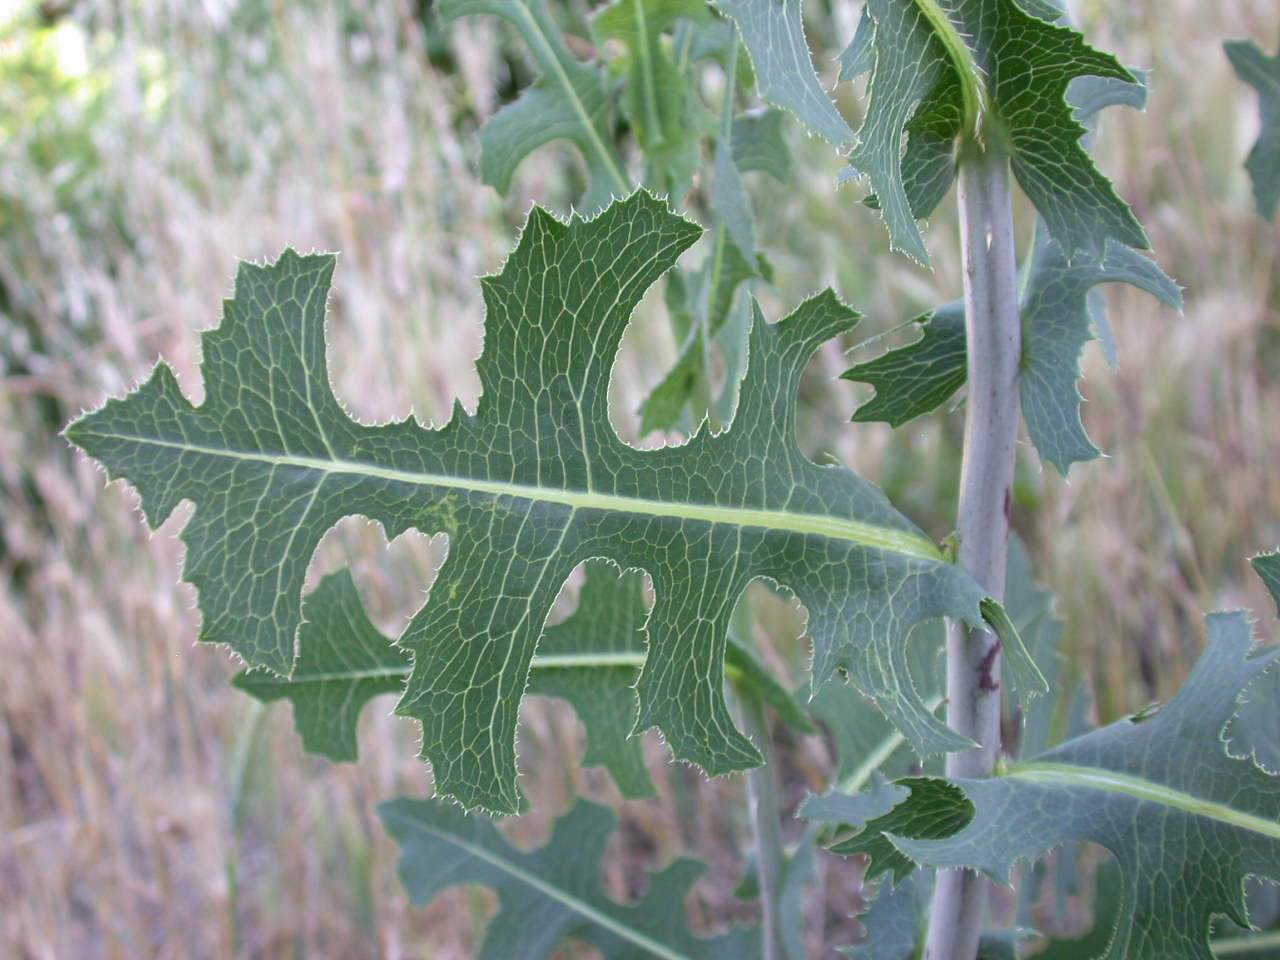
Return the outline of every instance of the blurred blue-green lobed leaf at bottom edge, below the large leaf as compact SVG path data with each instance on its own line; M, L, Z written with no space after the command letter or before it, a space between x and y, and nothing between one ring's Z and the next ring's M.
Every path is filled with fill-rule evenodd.
M532 852L511 846L493 823L440 800L399 799L379 808L401 845L399 874L422 905L458 883L498 896L477 960L544 960L567 940L591 943L609 960L751 960L759 937L732 929L712 938L684 924L685 897L705 870L676 860L650 874L644 896L618 904L600 890L600 863L617 818L580 800Z

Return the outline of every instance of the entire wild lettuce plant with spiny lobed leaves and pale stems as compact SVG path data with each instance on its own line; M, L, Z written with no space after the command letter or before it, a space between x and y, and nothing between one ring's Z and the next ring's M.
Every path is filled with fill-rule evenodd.
M581 212L561 220L535 207L502 270L480 282L475 412L457 404L439 428L348 416L325 361L334 257L287 250L241 265L220 325L204 335L198 407L160 362L67 428L134 486L152 526L195 504L183 577L198 593L200 639L244 659L237 687L292 701L308 750L353 759L357 716L383 692L421 724L436 797L383 808L413 899L490 886L499 913L483 957L532 960L581 938L607 957L796 960L820 837L868 856L869 881L883 878L864 918L870 942L851 955L972 960L1016 955L1027 941L992 932L991 879L1092 842L1115 858L1094 955L1208 957L1216 916L1248 927L1245 881L1280 881L1277 714L1265 675L1276 654L1254 649L1243 613L1211 614L1207 649L1167 705L1097 730L1073 705L1055 730L1062 700L1044 695L1059 680L1060 630L1009 541L1023 422L1062 474L1098 456L1076 390L1080 351L1107 338L1094 288L1125 282L1180 305L1088 152L1100 110L1144 102L1143 74L1091 47L1047 0L868 0L841 58L841 81L869 73L855 132L814 72L799 0L617 0L590 26L607 63L570 52L545 0L445 0L440 13L503 18L541 70L481 132L485 182L506 189L552 140L573 143L588 172ZM1271 116L1268 61L1247 45L1228 50L1242 76L1260 78ZM700 78L717 72L713 109ZM739 111L753 83L776 109ZM920 317L916 343L846 374L877 390L855 421L899 425L965 389L950 544L869 479L797 445L800 376L859 314L828 289L771 323L746 296L771 268L742 173L786 180L783 111L847 151L892 247L922 262L919 221L957 186L963 298ZM1249 168L1263 214L1275 207L1267 136ZM1021 279L1015 184L1038 215ZM692 270L677 260L704 229L672 209L691 191L686 212L709 234ZM680 356L643 429L687 439L641 451L611 425L608 383L632 312L663 278ZM719 392L713 343L730 361ZM347 572L302 595L320 539L352 515L389 538L411 527L449 536L398 637L370 623ZM577 611L545 626L580 564ZM1254 567L1280 602L1280 559L1261 554ZM756 580L808 611L812 682L800 703L735 614ZM945 641L931 627L940 620ZM945 680L934 669L943 643ZM532 852L503 838L490 818L526 803L516 750L526 692L573 704L584 762L628 797L654 790L635 739L650 727L708 776L767 760L765 707L797 732L832 731L838 769L801 808L813 826L790 856L772 773L751 780L759 931L686 929L682 902L700 870L687 860L650 877L637 902L611 900L599 861L616 818L594 804L581 801ZM943 755L943 769L908 769Z

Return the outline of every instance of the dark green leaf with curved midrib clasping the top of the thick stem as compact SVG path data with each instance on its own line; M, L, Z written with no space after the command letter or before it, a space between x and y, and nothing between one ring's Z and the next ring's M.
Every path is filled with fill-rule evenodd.
M1076 251L1102 257L1108 239L1147 246L1082 147L1084 127L1066 102L1075 77L1132 81L1115 58L1015 0L868 0L867 9L874 20L870 105L850 163L870 179L895 248L928 261L915 220L946 193L956 141L972 136L1007 150L1069 259ZM867 42L859 31L845 73L865 67Z

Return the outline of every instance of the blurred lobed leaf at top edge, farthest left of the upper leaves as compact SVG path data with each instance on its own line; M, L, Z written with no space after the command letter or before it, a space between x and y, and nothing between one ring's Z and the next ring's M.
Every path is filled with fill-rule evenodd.
M568 51L545 0L440 0L439 9L444 23L475 14L507 20L543 72L481 128L480 175L485 183L506 193L521 160L544 143L568 140L582 151L590 179L582 211L599 210L611 196L631 192L609 138L604 74Z

